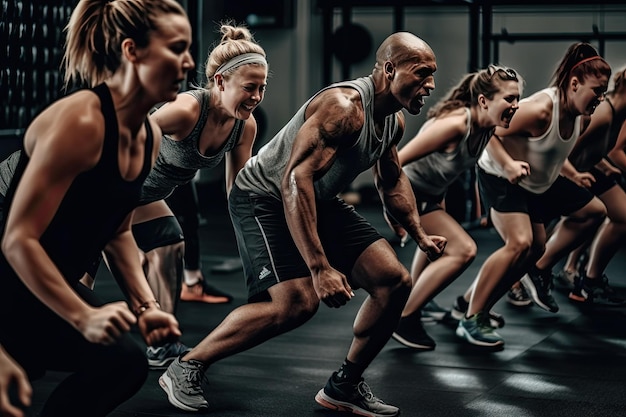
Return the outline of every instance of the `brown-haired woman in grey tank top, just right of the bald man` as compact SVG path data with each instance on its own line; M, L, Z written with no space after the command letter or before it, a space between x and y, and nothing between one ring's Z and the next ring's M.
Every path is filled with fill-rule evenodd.
M467 74L428 113L428 120L398 156L411 181L420 219L429 235L448 238L443 255L428 261L416 250L412 262L413 288L393 338L413 349L432 350L435 341L421 322L421 310L469 266L476 243L444 209L450 184L473 169L496 126L508 126L517 110L521 80L509 68L490 66ZM401 239L406 231L385 216ZM459 297L467 305L466 298ZM459 300L459 302L461 302ZM461 313L462 314L462 313ZM495 315L494 315L495 316Z

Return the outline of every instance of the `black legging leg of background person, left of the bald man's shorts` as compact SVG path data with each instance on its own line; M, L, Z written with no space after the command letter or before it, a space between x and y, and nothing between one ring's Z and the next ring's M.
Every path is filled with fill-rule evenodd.
M193 184L188 182L178 186L166 200L178 219L185 236L185 269L200 269L200 227L198 200Z

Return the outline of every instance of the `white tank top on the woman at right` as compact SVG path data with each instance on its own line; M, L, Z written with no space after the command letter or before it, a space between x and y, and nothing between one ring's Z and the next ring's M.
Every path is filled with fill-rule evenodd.
M556 87L540 90L532 96L523 99L532 100L537 94L547 94L552 100L552 118L550 126L541 136L530 138L502 138L502 144L511 157L518 161L530 164L530 175L521 179L520 187L535 194L548 190L558 178L561 168L580 136L581 117L574 119L574 129L569 138L561 137L559 132L559 94ZM498 177L506 178L504 168L489 154L483 152L478 159L478 165L485 172Z

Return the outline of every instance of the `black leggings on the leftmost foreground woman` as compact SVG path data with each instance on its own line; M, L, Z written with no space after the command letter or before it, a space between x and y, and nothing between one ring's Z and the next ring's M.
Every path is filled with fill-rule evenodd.
M131 334L109 346L90 343L18 287L12 298L20 301L13 303L10 316L6 311L2 316L6 350L31 379L46 371L70 373L50 394L40 416L106 416L139 391L148 376L148 363ZM85 286L78 284L76 290L89 304L102 304Z

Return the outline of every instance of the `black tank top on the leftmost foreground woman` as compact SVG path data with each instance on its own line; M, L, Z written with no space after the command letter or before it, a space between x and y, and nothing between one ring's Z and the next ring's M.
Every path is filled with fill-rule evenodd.
M136 179L126 181L119 169L119 131L111 93L104 83L92 88L92 91L100 98L105 120L100 160L92 169L76 177L40 239L52 261L71 284L77 282L96 257L100 256L123 220L137 206L142 184L151 169L154 146L152 130L146 118L143 168ZM22 150L7 191L6 214L27 164L28 156ZM4 275L4 268L8 264L3 255L0 255L0 259L0 274Z

